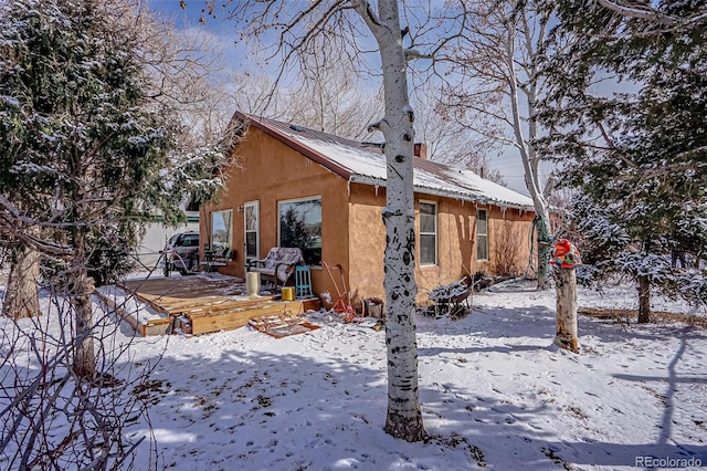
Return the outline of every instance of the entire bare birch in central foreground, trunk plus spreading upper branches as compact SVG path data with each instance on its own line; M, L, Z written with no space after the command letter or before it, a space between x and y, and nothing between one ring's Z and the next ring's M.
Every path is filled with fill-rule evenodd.
M282 64L274 82L277 84L298 65L299 76L317 66L347 63L350 70L381 76L384 115L370 126L382 132L388 161L387 207L383 222L387 230L384 253L388 344L388 414L386 430L398 438L418 441L426 436L422 423L418 390L418 348L414 327L414 211L412 187L414 112L408 90L409 63L430 57L439 50L450 29L458 28L454 19L434 20L428 14L429 3L404 6L398 1L379 0L312 0L303 4L268 0L226 2L230 20L236 27L239 43L265 46L266 60ZM410 7L410 8L409 8ZM443 11L443 10L440 10ZM402 18L408 24L401 25ZM423 33L445 24L444 31L428 39ZM450 27L452 24L452 27ZM274 41L272 41L274 39ZM408 46L403 46L403 41ZM334 52L325 64L321 48ZM270 48L270 49L268 49ZM421 52L424 48L424 52ZM366 60L376 53L377 69ZM316 75L315 75L316 76ZM326 97L323 96L324 101ZM330 105L329 105L330 106ZM325 116L324 116L325 117Z

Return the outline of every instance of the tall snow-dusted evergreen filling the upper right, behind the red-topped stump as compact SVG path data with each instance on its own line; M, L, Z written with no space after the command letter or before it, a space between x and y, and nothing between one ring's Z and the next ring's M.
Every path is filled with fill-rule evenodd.
M641 8L652 13L559 3L542 118L546 148L567 159L564 182L588 198L579 213L595 221L601 208L612 228L603 233L621 234L593 241L602 250L590 257L635 278L639 322L648 322L651 287L690 297L685 284L704 285L669 255L697 254L707 241L707 21L695 20L703 1ZM602 93L600 82L620 92Z

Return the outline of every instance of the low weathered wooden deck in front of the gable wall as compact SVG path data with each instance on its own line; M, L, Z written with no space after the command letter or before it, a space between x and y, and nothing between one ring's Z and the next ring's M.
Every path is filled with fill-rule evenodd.
M245 296L244 282L238 278L181 276L116 285L168 316L172 328L194 335L243 327L251 318L265 315L296 315L319 308L318 300L283 302L278 295Z

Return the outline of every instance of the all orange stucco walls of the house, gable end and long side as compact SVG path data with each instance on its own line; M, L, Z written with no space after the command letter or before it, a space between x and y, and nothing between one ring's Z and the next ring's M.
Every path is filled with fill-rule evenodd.
M382 297L383 253L386 230L381 209L386 205L386 189L350 184L302 154L281 144L255 127L249 129L246 140L238 148L239 166L228 170L228 186L218 203L207 206L201 214L200 231L207 242L210 212L233 210L234 261L221 272L245 276L243 257L244 222L242 210L247 201L260 201L260 257L277 244L278 201L306 197L321 197L323 261L344 268L347 287L357 297ZM419 232L419 202L437 205L437 263L418 266L418 301L428 301L430 290L458 280L467 272L494 271L502 249L513 244L520 265L528 260L528 231L531 213L517 210L488 210L489 261L476 260L476 209L471 202L426 195L415 196L415 230ZM507 222L511 221L511 222ZM510 233L519 236L509 237ZM419 247L419 244L418 244ZM507 251L506 251L507 252ZM507 257L507 255L506 255ZM419 257L416 258L419 261ZM525 269L525 266L523 266ZM333 271L339 289L338 271ZM327 271L312 268L316 294L329 292L336 301L337 292Z

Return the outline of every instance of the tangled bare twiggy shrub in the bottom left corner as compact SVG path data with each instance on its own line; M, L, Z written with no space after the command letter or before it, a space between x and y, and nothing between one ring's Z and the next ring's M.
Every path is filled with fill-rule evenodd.
M120 341L119 322L98 310L91 329L103 374L86 381L72 366L74 316L65 293L50 287L41 307L41 317L0 318L0 467L129 469L146 437L129 438L127 427L140 416L149 420L145 391L155 387L156 363L126 362L129 338Z

